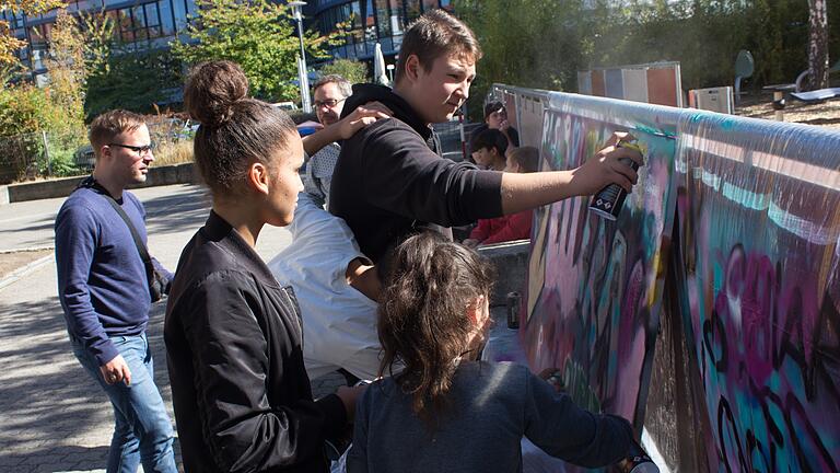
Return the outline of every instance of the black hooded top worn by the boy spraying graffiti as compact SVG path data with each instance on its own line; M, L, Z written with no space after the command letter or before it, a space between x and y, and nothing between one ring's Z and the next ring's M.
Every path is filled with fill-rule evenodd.
M423 223L451 227L502 215L502 174L441 158L432 129L390 89L353 85L342 116L371 101L394 117L343 141L329 196L329 211L347 221L362 253L378 263Z

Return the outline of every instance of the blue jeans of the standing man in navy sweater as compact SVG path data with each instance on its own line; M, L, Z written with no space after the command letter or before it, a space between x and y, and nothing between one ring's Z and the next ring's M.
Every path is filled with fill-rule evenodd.
M107 384L100 364L81 342L70 337L73 354L95 379L114 406L114 437L108 451L108 473L136 473L142 462L145 473L176 473L172 451L173 429L166 406L154 384L152 351L145 334L112 337L110 342L131 370L131 384Z

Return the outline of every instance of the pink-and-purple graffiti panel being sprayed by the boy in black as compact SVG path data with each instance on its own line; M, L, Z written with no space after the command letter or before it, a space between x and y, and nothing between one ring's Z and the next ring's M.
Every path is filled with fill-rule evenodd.
M575 402L641 427L658 327L664 250L673 226L677 112L552 94L542 155L580 165L615 130L646 149L639 184L615 222L572 198L535 214L523 345L532 369L560 368Z

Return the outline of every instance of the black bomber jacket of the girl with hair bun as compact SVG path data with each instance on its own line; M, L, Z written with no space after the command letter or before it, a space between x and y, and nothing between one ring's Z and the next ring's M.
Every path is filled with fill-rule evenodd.
M184 249L166 305L170 381L187 472L326 472L347 423L313 402L291 288L215 212Z

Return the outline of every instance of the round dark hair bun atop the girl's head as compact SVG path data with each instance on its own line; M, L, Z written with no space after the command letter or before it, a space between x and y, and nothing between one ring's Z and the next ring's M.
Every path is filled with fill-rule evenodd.
M233 116L233 105L247 95L248 79L240 65L213 60L190 71L184 88L184 106L201 125L219 127Z

